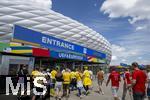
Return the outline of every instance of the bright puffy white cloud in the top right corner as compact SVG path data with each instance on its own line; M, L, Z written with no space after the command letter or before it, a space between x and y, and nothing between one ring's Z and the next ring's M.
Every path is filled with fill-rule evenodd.
M100 10L110 18L128 17L130 24L146 21L145 25L149 26L150 0L105 0ZM145 25L136 29L148 29Z

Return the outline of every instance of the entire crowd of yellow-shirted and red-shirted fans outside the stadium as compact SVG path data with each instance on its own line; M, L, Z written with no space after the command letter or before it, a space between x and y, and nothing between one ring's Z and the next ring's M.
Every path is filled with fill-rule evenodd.
M24 67L20 69L18 74L27 73L26 71L23 72L23 69ZM64 68L60 70L59 67L55 67L50 70L36 67L35 70L32 71L31 76L32 79L37 76L44 76L47 80L46 84L43 83L43 81L39 81L39 83L46 85L48 90L45 95L33 95L32 100L37 100L37 98L45 100L47 97L56 98L56 100L61 100L63 97L68 99L71 91L77 91L77 96L81 99L83 96L87 96L93 87L93 72L88 70L87 66L84 67L84 70L81 70L80 68L73 70ZM148 98L150 100L149 67L147 67L147 69L140 69L138 63L134 62L130 67L125 68L123 75L120 75L114 67L111 68L107 77L105 76L106 74L100 68L96 75L98 91L100 94L104 95L104 91L102 89L104 82L106 83L106 86L108 86L111 81L111 90L114 100L127 100L127 93L129 93L131 100L144 100L144 98ZM123 81L122 98L118 96L118 90L121 89L121 81ZM41 88L37 88L37 91L43 90Z

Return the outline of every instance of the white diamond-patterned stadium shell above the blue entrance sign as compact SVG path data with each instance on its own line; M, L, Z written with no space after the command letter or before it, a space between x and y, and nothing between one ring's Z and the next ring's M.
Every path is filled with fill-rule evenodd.
M11 38L13 24L97 51L109 52L111 55L111 44L100 33L76 20L26 0L13 0L13 2L2 0L0 2L0 34L5 34L3 39Z

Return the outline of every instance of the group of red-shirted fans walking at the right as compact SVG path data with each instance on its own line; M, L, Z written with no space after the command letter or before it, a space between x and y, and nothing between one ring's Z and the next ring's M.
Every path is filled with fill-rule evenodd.
M118 96L118 89L120 87L121 75L116 71L115 68L111 69L106 86L111 81L111 90L114 100L127 100L127 91L130 95L130 100L144 100L148 98L150 100L150 73L149 67L139 68L137 62L132 63L131 66L125 68L123 79L123 93L122 99Z

